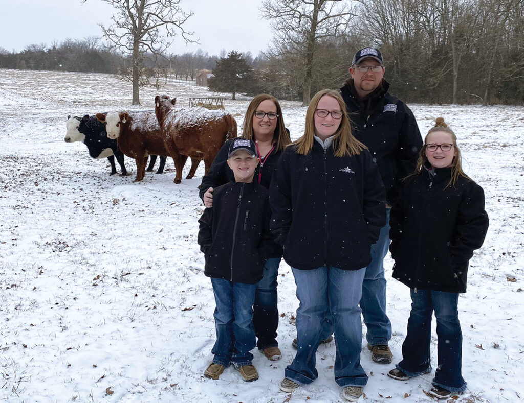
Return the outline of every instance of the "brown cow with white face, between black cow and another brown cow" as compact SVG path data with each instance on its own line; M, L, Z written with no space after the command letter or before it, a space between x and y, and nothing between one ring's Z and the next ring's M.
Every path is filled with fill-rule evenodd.
M144 179L149 155L169 156L152 112L97 113L96 119L105 124L107 137L116 139L118 148L128 157L135 158L135 182ZM188 178L194 176L199 163L200 159L192 159Z

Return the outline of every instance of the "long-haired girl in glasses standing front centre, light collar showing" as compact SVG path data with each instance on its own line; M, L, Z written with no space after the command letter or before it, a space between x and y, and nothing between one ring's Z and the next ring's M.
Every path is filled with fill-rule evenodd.
M386 223L385 190L366 146L355 139L344 101L317 93L305 130L280 157L269 189L271 231L291 266L297 297L297 354L280 384L283 392L313 382L315 352L326 314L333 318L335 381L356 401L367 375L360 364L361 309L370 248Z

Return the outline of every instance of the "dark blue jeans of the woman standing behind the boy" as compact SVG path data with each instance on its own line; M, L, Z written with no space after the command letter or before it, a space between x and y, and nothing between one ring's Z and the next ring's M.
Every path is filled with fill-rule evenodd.
M277 277L280 258L269 258L264 264L264 277L257 284L255 305L253 305L253 325L258 339L257 347L264 350L278 347L278 296Z

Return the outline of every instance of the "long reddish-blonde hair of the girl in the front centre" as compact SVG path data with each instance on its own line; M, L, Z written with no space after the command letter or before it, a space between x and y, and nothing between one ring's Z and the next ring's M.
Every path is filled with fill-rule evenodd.
M293 142L292 145L296 146L298 154L308 155L311 152L314 141L313 136L315 135L315 109L319 105L320 99L324 96L335 98L337 102L339 102L340 110L343 112L339 129L334 134L335 137L333 139L335 157L360 154L364 149L367 149L367 147L353 136L351 132L350 120L346 114L346 104L338 91L331 89L323 89L313 96L311 102L309 103L308 111L305 113L304 134L302 137L300 137L300 139Z

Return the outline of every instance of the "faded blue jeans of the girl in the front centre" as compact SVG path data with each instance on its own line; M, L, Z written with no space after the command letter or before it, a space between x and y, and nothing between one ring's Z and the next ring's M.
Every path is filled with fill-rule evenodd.
M367 375L360 364L362 346L361 309L365 269L341 270L320 267L291 268L297 284L297 355L286 367L286 378L309 384L318 377L315 353L320 344L326 314L335 330L335 382L339 386L364 386Z

